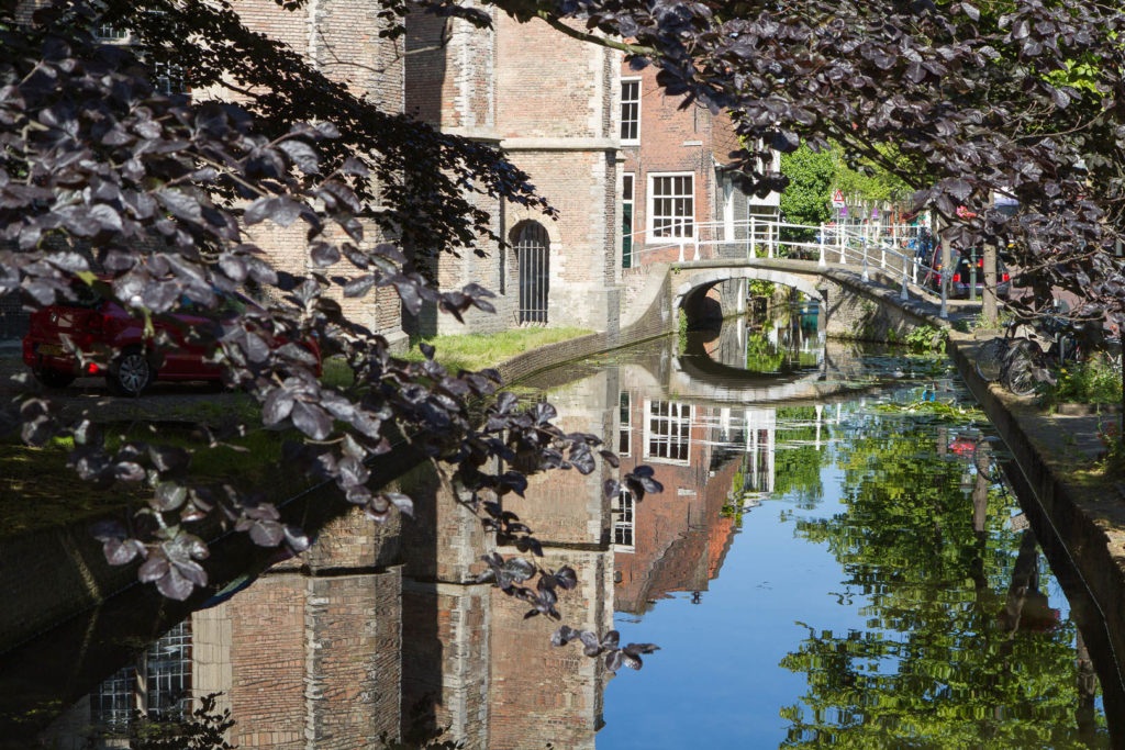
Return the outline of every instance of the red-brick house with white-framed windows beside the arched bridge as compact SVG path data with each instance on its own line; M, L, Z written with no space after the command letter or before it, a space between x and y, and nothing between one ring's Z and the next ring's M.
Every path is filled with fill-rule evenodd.
M623 65L620 80L622 264L675 261L684 244L692 260L695 243L746 240L752 217L776 219L780 196L757 198L735 183L730 154L739 143L726 114L698 103L681 108L656 83L656 70ZM775 155L774 169L780 168ZM762 242L759 233L756 237ZM662 250L663 249L663 250ZM745 249L724 246L726 252ZM700 247L700 257L716 247Z

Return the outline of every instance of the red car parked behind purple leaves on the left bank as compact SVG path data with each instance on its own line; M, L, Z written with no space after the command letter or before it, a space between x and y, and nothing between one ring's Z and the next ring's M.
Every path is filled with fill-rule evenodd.
M244 297L224 295L223 298L224 309L231 314L254 304ZM190 309L190 302L186 307ZM137 396L156 378L219 380L223 368L206 362L206 350L188 343L184 337L186 331L213 323L214 313L210 315L205 317L180 311L171 316L176 324L154 320L156 331L168 332L178 344L173 350L156 352L150 345L151 338L145 336L142 320L80 284L76 300L51 305L32 314L27 335L24 336L24 363L32 368L39 382L52 388L65 388L79 376L104 374L110 390L120 396ZM63 336L68 336L80 352L109 349L112 352L109 367L80 363L64 345ZM274 345L284 343L279 340ZM316 342L303 342L302 345L316 356L316 372L320 374L321 352Z

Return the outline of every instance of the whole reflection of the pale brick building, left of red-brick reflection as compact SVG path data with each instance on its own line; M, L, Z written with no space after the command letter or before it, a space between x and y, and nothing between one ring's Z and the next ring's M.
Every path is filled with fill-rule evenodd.
M603 373L557 391L556 423L612 434L618 390ZM615 530L602 487L615 473L602 463L588 476L555 471L531 477L526 498L505 498L543 543L538 564L577 573L559 604L562 622L600 634L613 626ZM416 522L399 532L358 510L336 519L306 553L194 613L50 737L81 748L101 724L122 738L107 747L127 747L133 708L155 719L183 696L220 693L241 748L378 748L381 734L415 729L430 739L443 730L467 749L593 748L611 677L604 660L577 644L552 647L558 622L525 620L525 602L475 582L495 544L432 475L400 484Z

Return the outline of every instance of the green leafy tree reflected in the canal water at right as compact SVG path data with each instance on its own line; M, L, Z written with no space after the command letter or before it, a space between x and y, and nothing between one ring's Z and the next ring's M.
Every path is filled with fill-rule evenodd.
M1104 719L1092 730L1077 714L1089 690L1076 630L1045 606L1034 540L1004 526L997 491L974 497L974 513L960 467L934 455L933 436L902 432L868 421L844 449L846 510L798 525L839 560L842 596L862 595L867 620L846 633L809 627L782 660L809 685L803 706L782 710L785 746L1107 744Z

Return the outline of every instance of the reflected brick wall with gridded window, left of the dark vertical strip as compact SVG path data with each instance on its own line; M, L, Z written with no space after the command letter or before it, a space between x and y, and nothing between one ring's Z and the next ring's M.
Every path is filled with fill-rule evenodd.
M100 747L128 747L130 722L176 719L209 694L222 694L240 748L368 748L397 735L402 568L385 567L394 546L358 509L338 519L299 559L172 627L47 737L82 748L96 732Z

